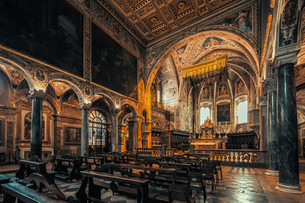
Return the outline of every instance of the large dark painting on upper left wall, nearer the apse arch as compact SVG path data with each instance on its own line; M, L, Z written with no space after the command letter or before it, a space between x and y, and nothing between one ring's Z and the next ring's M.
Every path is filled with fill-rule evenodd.
M94 23L92 81L137 100L137 58Z

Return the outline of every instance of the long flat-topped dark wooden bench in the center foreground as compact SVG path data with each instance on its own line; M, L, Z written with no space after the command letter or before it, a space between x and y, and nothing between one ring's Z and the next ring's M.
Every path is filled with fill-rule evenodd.
M81 201L89 202L103 202L101 201L101 189L99 185L94 184L93 178L108 180L112 182L117 182L118 184L128 184L130 186L135 186L137 189L137 202L146 203L148 202L148 182L149 180L143 180L136 177L128 177L111 173L101 173L96 171L82 171L81 175L83 177L81 186L76 192L76 197ZM88 186L88 195L85 193L85 189ZM113 190L118 190L117 184L112 184Z

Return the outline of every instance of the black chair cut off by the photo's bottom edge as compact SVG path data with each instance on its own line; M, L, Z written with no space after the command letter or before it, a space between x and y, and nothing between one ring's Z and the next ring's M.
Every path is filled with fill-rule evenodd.
M172 203L174 200L180 202L191 203L191 193L188 187L177 184L170 184L168 188L168 200L169 203Z

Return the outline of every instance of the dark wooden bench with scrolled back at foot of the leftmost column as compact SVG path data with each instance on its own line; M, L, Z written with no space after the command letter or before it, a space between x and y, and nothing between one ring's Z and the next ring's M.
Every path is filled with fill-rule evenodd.
M54 177L57 172L46 169L47 162L42 161L38 158L38 156L33 156L31 159L21 159L19 160L20 168L16 172L16 178L23 179L24 177L28 177L32 173L39 173L45 176L50 183L54 184ZM32 169L35 167L35 169Z

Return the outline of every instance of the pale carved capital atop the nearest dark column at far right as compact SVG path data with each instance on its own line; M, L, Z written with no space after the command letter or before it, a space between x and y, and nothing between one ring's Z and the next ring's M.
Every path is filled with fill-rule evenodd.
M293 65L296 65L296 63L298 62L298 53L300 50L300 45L283 49L280 53L275 53L274 60L272 63L275 65L276 68L287 63L292 63Z

